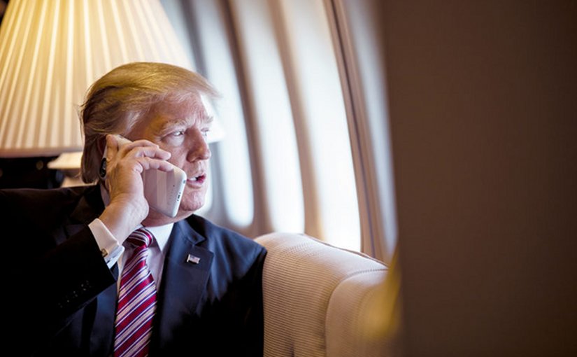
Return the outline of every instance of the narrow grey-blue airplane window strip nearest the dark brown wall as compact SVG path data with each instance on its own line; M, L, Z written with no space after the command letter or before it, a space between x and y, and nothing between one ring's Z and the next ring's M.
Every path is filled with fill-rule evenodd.
M397 218L390 150L380 17L374 1L335 0L334 14L343 63L353 160L362 214L362 250L390 262L397 244Z

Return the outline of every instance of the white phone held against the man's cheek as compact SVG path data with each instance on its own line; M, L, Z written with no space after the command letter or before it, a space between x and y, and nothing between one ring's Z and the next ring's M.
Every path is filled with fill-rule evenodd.
M120 135L115 135L120 144L128 144L130 141ZM106 162L106 149L104 149L103 162ZM180 199L186 186L186 173L174 165L170 172L158 169L148 169L142 174L144 197L148 205L162 214L175 217L180 207ZM101 172L106 173L106 168ZM103 176L104 177L104 176Z

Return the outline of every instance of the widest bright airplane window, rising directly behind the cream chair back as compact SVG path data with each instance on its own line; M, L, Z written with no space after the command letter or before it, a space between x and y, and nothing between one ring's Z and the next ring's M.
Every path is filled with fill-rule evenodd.
M308 140L306 230L331 244L360 250L355 172L336 57L323 1L278 1L284 15L294 117ZM299 120L299 117L302 120ZM306 165L306 164L305 164ZM307 191L307 190L306 190ZM314 196L314 197L313 197ZM312 199L312 200L311 200Z

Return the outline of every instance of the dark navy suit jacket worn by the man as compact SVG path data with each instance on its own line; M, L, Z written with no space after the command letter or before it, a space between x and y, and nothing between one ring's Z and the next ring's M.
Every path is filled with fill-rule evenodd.
M8 346L22 356L110 356L117 268L87 224L98 186L0 190ZM198 264L187 262L192 254ZM262 356L265 249L199 216L167 245L150 356Z

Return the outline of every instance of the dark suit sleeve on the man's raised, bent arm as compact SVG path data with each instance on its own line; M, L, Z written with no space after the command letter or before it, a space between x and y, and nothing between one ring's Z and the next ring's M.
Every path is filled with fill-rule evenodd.
M29 214L34 209L12 196L0 191L1 224L14 228L5 236L9 253L2 260L8 272L8 306L14 309L8 314L7 325L14 327L8 329L8 338L27 355L25 351L48 343L77 311L115 283L115 276L87 225L78 225L68 236L58 222L45 223L54 218L34 219Z

